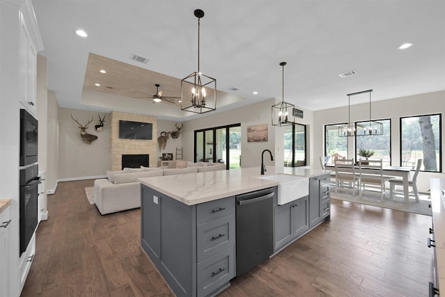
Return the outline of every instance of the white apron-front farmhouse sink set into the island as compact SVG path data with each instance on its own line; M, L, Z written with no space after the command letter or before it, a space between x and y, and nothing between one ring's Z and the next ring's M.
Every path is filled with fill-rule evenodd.
M264 175L260 179L270 179L278 182L278 204L286 204L298 198L309 195L309 178L297 175Z

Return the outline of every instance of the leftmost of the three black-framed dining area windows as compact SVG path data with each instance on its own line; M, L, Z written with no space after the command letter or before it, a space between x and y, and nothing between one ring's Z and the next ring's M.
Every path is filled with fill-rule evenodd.
M348 157L348 138L339 136L339 127L346 123L325 125L325 163L334 165L334 158Z

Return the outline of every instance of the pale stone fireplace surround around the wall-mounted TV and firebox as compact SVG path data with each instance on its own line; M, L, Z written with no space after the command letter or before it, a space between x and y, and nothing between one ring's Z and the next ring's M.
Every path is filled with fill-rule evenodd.
M122 139L119 138L119 121L129 120L133 122L151 122L153 125L153 139ZM122 170L122 155L144 154L151 155L149 167L156 167L156 135L157 119L151 115L139 115L136 113L111 112L110 120L110 156L111 170Z

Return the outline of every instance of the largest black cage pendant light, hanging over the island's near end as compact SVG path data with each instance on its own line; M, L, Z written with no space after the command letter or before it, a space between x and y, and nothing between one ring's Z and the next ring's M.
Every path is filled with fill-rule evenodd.
M181 110L207 113L216 110L216 79L200 72L200 19L204 11L195 10L197 17L197 72L181 80Z

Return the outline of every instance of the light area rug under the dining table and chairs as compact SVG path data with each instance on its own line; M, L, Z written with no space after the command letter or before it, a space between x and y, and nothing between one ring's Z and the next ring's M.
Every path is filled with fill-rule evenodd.
M375 207L384 207L400 211L412 212L414 214L431 216L431 209L430 207L428 207L428 204L431 203L431 200L428 200L428 195L419 194L419 202L416 202L414 197L410 197L410 203L405 204L403 195L395 195L394 198L389 198L389 193L385 194L385 198L382 201L380 200L380 193L375 193L375 195L373 193L367 195L363 194L362 197L359 197L358 194L355 194L355 196L353 196L352 194L345 193L344 191L339 191L338 193L331 191L330 194L332 199L346 200L350 202L373 205Z

